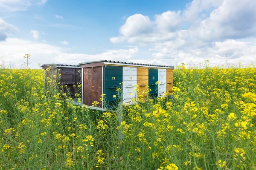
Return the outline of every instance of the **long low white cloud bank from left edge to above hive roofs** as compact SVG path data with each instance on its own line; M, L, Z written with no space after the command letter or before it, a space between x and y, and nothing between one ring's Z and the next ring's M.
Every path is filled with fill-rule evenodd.
M130 49L106 50L99 54L73 54L65 52L64 48L49 45L46 42L34 42L17 38L7 38L0 42L0 56L6 63L12 62L16 68L23 63L24 54L31 54L31 68L38 68L41 64L78 64L95 60L128 61L136 56L140 50L137 47Z

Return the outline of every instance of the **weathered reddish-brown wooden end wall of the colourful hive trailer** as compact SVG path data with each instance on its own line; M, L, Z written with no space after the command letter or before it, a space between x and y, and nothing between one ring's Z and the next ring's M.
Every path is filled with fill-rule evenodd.
M99 102L102 94L102 67L84 68L84 104L91 106L94 101Z

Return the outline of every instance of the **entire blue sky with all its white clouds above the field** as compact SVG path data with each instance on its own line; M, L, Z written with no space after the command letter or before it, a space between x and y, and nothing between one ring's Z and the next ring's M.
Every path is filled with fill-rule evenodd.
M0 0L0 56L19 68L99 59L256 61L255 0ZM8 64L7 64L8 63Z

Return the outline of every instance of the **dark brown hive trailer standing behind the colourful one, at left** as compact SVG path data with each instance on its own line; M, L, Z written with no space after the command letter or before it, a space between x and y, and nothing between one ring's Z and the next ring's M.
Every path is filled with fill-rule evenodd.
M44 69L45 76L55 79L57 83L60 82L60 85L67 85L67 88L70 89L71 96L75 96L76 91L73 85L81 83L81 74L79 73L81 68L79 65L44 64L41 67ZM59 74L61 75L59 76ZM64 88L64 90L67 88Z

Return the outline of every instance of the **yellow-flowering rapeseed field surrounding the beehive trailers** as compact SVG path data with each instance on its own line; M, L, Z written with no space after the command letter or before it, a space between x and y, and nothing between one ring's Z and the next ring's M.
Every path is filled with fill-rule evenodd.
M56 84L28 65L0 69L0 169L256 169L254 65L178 66L173 97L121 117L73 105Z

